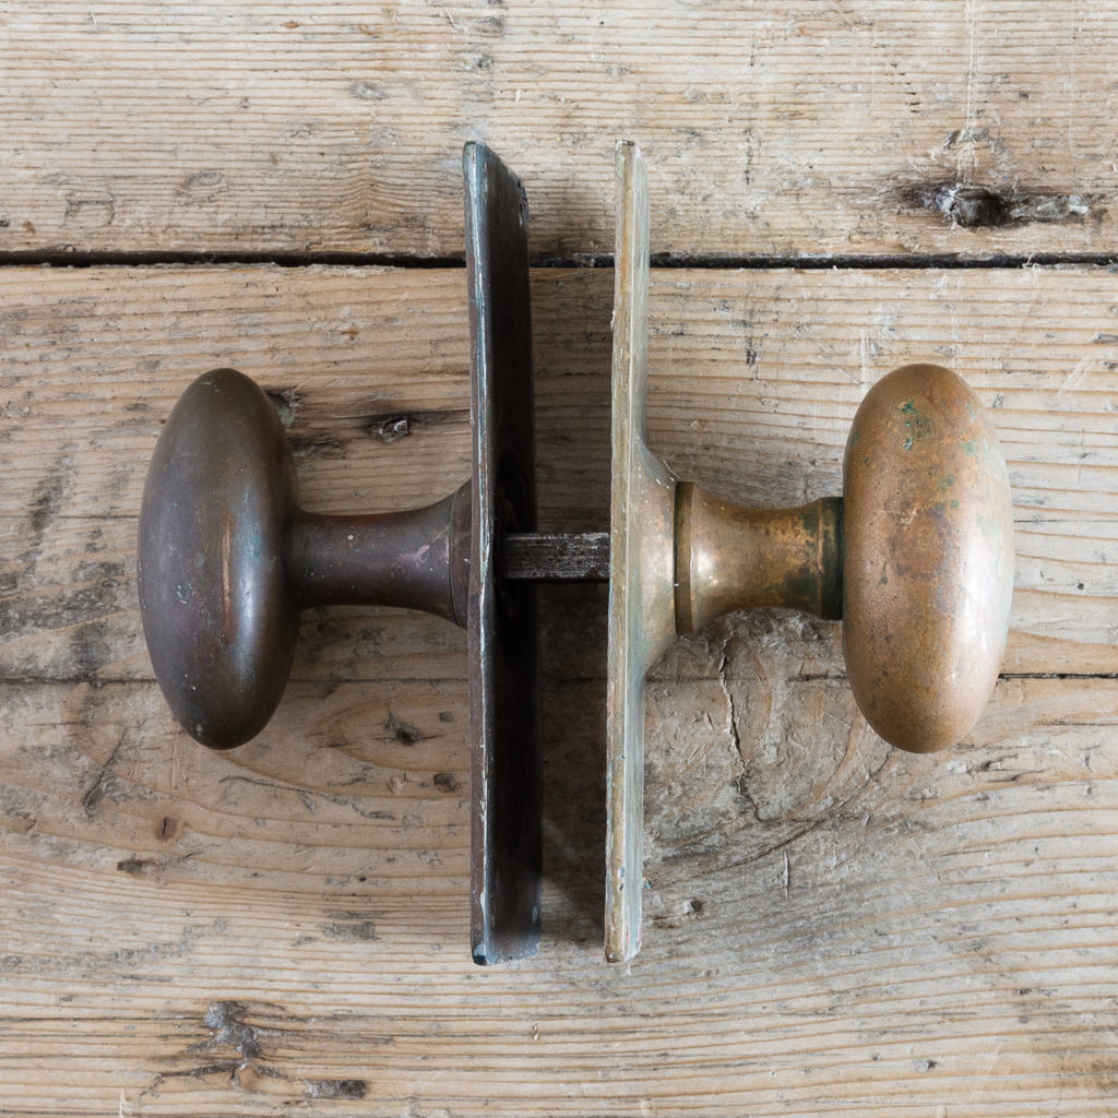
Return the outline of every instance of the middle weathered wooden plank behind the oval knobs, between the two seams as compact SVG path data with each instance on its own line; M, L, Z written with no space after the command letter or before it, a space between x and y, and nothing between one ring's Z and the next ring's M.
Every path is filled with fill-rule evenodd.
M311 508L406 508L455 489L468 461L464 286L455 269L0 273L9 675L142 674L134 518L162 417L206 368L237 364L276 394ZM610 286L597 271L534 273L544 528L607 519ZM1116 305L1105 268L657 273L653 445L745 503L797 504L840 491L850 419L880 373L946 361L995 409L1010 462L1007 670L1118 671ZM399 667L360 672L427 674L421 642L451 638L435 623L404 628L416 625ZM54 633L72 626L61 654ZM102 660L82 651L91 642L107 642ZM841 670L823 644L819 670Z

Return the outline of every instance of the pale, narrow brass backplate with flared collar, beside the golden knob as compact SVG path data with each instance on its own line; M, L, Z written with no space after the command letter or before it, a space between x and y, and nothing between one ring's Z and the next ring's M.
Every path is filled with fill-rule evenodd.
M675 479L645 443L648 179L617 145L609 651L606 692L606 958L641 948L644 883L644 676L675 635Z

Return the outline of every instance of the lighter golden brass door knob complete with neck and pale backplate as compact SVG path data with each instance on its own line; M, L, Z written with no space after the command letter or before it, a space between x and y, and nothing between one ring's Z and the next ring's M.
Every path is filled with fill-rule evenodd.
M1013 586L1010 485L978 398L911 364L863 399L843 495L740 509L681 481L645 440L647 179L617 149L608 653L606 955L641 944L644 678L676 634L733 609L843 619L870 724L916 752L953 745L989 699Z

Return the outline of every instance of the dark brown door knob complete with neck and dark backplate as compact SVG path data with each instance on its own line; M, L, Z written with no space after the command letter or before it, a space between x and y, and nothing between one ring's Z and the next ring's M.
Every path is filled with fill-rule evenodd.
M267 395L219 369L187 389L160 435L138 578L155 678L182 726L217 749L272 717L304 608L409 606L467 629L471 936L475 961L496 963L539 942L534 588L499 586L504 533L536 527L528 212L520 181L487 149L467 144L463 168L471 479L409 512L305 512Z

